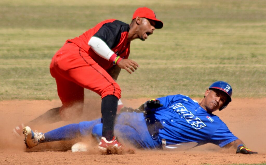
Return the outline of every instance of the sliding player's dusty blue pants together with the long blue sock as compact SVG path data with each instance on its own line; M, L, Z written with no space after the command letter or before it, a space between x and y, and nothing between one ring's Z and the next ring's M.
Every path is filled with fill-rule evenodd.
M158 138L150 135L143 113L121 113L117 115L114 133L119 138L131 143L137 148L155 149L161 147ZM41 143L60 140L71 140L80 136L102 136L101 119L69 124L44 134Z

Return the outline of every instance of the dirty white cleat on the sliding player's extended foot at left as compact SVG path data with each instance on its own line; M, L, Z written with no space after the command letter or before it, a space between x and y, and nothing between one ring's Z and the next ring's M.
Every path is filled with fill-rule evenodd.
M41 132L33 132L30 127L23 128L23 134L25 136L25 144L27 148L32 148L40 144L41 140L44 140L44 134Z

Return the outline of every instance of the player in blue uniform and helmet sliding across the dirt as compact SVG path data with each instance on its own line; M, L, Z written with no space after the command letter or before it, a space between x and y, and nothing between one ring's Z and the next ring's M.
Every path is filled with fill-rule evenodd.
M198 103L185 95L169 95L149 100L134 112L117 116L115 134L136 148L163 149L196 147L213 143L234 147L236 153L257 154L234 136L226 124L212 112L223 110L231 102L232 87L223 81L211 84ZM125 108L124 111L131 111ZM23 129L25 144L32 148L40 143L70 140L93 135L101 138L101 119L69 124L45 134Z

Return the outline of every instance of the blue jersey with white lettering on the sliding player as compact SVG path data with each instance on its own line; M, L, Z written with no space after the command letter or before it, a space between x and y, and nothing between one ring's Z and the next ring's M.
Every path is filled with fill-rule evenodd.
M188 96L170 95L158 100L163 107L151 110L146 118L160 121L158 136L163 146L176 148L180 143L196 142L223 147L238 139L218 116L209 114Z

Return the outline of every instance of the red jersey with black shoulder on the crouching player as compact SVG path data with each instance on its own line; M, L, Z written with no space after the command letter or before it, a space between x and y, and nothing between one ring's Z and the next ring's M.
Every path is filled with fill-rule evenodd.
M95 62L103 69L107 70L113 66L113 63L97 55L88 42L92 36L101 38L115 54L121 58L128 58L130 53L130 42L127 42L129 25L116 19L108 19L98 23L92 29L89 29L79 37L68 39L81 49L85 50Z

